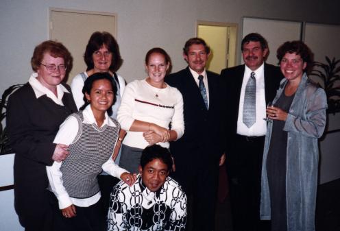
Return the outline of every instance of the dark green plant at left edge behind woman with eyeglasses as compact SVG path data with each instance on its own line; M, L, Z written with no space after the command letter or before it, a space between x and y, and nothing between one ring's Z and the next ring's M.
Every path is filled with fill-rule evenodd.
M8 136L6 134L6 127L4 125L5 123L5 117L6 117L6 109L7 109L7 102L8 102L8 97L14 93L15 90L20 88L22 84L15 84L7 88L0 99L0 154L8 154L12 150L10 146L8 145Z

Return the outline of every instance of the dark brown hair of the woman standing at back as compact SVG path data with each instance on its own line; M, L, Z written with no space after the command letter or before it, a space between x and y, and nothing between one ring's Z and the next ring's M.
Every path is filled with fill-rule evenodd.
M101 49L103 45L105 45L108 51L112 53L112 62L109 67L110 71L118 71L119 67L121 67L121 64L123 64L118 43L114 37L108 32L95 32L90 36L84 53L84 61L87 65L86 71L90 71L94 68L95 64L93 64L92 55L95 51Z

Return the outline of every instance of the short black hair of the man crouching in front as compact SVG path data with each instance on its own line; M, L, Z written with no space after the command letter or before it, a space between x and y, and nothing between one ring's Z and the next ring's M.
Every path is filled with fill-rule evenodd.
M168 171L171 171L171 167L173 165L170 151L165 147L161 147L160 145L151 145L145 147L142 151L141 156L141 167L144 169L145 165L148 162L151 162L154 159L162 160L165 165L168 167Z

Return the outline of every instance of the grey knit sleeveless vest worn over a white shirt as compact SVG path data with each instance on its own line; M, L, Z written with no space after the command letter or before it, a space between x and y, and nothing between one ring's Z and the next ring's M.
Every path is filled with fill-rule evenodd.
M75 140L69 146L70 154L62 162L63 185L73 198L88 198L99 192L97 175L101 165L110 158L119 135L119 123L110 118L116 127L95 123L82 123L82 111L74 113L79 123Z

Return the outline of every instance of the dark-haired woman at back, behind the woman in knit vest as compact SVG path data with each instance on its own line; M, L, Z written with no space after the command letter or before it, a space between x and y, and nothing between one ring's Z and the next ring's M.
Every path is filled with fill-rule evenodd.
M108 32L94 32L90 36L88 44L86 45L84 61L86 62L87 66L86 71L73 77L71 82L72 94L77 108L79 109L85 104L82 88L88 76L93 75L94 73L108 72L117 86L117 92L114 96L116 102L111 107L112 114L110 117L117 119L117 111L121 105L121 96L123 95L125 89L125 80L116 73L123 62L121 59L121 54L119 53L117 41ZM124 130L119 132L119 142L117 143L114 151L113 158L117 165L119 164L120 159L121 141L123 140L125 134L126 132ZM101 188L101 196L104 201L103 212L107 214L109 206L108 203L110 202L110 193L113 186L117 184L118 180L112 178L112 176L106 174L105 172L99 175L98 180L99 186Z

